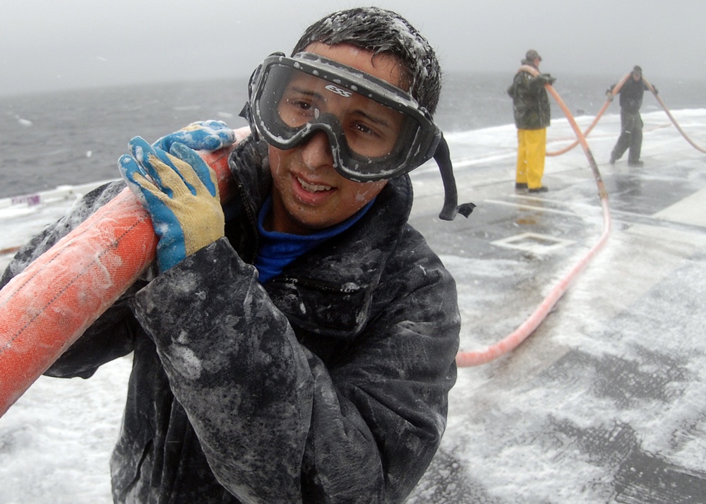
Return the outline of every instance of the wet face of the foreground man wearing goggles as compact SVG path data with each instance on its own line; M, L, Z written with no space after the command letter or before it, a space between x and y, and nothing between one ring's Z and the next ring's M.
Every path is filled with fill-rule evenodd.
M400 84L400 68L393 56L373 53L349 44L328 46L318 42L309 44L306 51L358 68L372 76ZM283 101L292 111L301 113L301 91L306 91L306 82L290 86L293 100ZM289 88L287 90L289 92ZM311 95L306 93L305 95ZM297 98L299 96L299 98ZM364 111L366 119L373 117L371 124L363 124L354 116L347 116L342 104L330 102L327 112L352 117L351 125L357 141L363 148L385 149L385 138L395 134L395 117L383 111ZM308 107L308 106L307 106ZM384 108L384 107L383 107ZM355 110L358 108L354 107ZM280 111L282 114L284 111ZM371 131L378 140L370 138ZM348 133L347 133L348 134ZM336 172L328 137L319 131L309 141L296 148L280 150L270 145L270 170L273 176L273 209L268 215L268 229L292 234L309 234L318 229L338 224L363 208L382 191L387 181L354 182Z

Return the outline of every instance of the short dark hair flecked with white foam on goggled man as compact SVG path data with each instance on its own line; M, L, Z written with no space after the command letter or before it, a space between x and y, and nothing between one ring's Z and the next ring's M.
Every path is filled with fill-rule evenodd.
M402 64L403 85L432 114L441 95L441 67L434 50L409 22L393 11L359 7L337 11L309 26L292 56L312 42L352 44L375 54L392 54Z

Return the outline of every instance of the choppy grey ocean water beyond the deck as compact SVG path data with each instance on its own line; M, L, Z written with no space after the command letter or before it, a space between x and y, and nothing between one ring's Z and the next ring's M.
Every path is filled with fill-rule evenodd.
M554 88L572 113L593 116L606 88L621 76L556 77ZM512 78L512 73L447 73L436 123L446 133L512 123L505 92ZM651 82L670 109L706 107L705 81ZM238 114L246 88L246 79L233 79L0 96L0 198L115 178L116 160L133 136L151 142L203 119L245 126ZM643 112L658 108L646 94ZM608 111L618 112L617 103ZM562 115L552 104L552 116Z

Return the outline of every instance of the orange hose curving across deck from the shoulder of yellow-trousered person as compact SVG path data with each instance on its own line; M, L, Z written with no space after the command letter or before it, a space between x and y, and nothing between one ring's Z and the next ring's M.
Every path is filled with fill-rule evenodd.
M537 69L532 66L522 66L520 67L520 69L529 71L534 76L537 76L537 74L539 73L539 71L537 71ZM563 296L563 294L566 292L566 289L568 289L570 283L573 282L575 277L577 277L578 274L586 268L590 260L592 260L592 258L600 251L601 248L603 248L610 236L611 217L608 206L608 193L606 192L605 185L603 184L601 174L598 171L598 165L596 164L593 154L590 148L588 147L586 138L582 135L578 124L576 124L576 121L571 115L571 112L569 111L568 107L566 107L566 104L564 104L563 100L561 100L561 97L558 95L556 90L551 87L551 85L546 84L544 87L546 88L546 90L549 91L552 97L554 97L554 100L556 100L559 107L561 107L561 109L563 110L564 114L566 114L566 118L571 124L573 131L576 133L576 137L581 143L581 146L586 154L589 164L591 165L591 169L594 174L594 179L598 187L601 205L603 208L603 233L597 243L590 249L590 251L588 251L585 256L583 256L578 261L578 263L576 263L573 268L571 268L568 274L564 276L553 289L551 289L551 292L549 292L549 294L544 298L542 303L539 304L537 309L534 310L532 315L530 315L527 320L525 320L525 322L520 325L520 327L518 327L513 332L511 332L510 335L504 337L502 340L500 340L496 344L491 345L490 347L469 352L458 352L458 354L456 355L456 364L459 367L479 366L480 364L486 364L486 362L492 361L493 359L497 359L499 356L507 354L511 350L515 349L517 345L525 341L527 337L529 337L532 332L534 332L534 330L539 327L539 324L541 324L544 318L546 318L546 316L549 314L549 311L551 311L551 308L554 308L554 305L556 305L557 301L561 299L561 296Z

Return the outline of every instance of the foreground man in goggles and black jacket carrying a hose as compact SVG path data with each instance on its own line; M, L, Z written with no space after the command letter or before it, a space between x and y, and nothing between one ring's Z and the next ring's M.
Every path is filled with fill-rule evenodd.
M407 172L434 155L456 212L431 122L441 68L380 8L326 16L293 54L253 76L225 212L190 149L232 142L222 123L133 138L119 161L157 264L47 371L86 378L133 352L116 502L402 502L441 442L456 289L407 222ZM123 188L74 204L3 282Z

